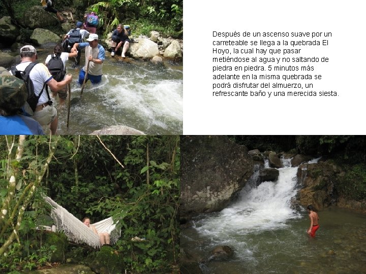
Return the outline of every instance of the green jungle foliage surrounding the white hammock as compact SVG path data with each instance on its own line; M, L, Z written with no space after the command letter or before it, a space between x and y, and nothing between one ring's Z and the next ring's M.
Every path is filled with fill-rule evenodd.
M0 219L0 272L35 269L57 249L54 241L31 240L50 211L42 194L79 219L118 220L122 235L113 248L121 272L177 271L179 136L26 136L24 142L0 136L0 147L2 217L7 211ZM131 241L135 236L146 241ZM87 262L95 255L73 247L66 258Z

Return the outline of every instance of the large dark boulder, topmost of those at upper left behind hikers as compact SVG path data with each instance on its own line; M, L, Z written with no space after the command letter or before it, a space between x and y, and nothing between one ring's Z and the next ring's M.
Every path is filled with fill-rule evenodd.
M24 12L22 23L30 29L58 25L59 20L52 14L46 12L41 6L33 6Z

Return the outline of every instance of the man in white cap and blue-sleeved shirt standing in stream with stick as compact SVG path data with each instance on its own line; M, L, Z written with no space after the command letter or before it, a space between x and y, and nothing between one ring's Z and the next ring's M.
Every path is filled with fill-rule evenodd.
M90 33L89 38L86 39L86 43L75 43L71 52L77 51L77 49L85 48L85 66L89 62L89 70L88 74L85 75L85 66L80 70L79 74L79 84L81 85L84 82L84 78L86 77L86 81L90 80L92 84L98 84L102 81L102 69L103 69L103 61L105 59L105 51L104 48L98 44L98 35L95 33Z

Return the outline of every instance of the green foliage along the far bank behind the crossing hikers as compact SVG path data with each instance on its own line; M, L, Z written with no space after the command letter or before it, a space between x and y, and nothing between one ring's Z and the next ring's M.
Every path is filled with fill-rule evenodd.
M39 5L39 0L0 0L0 16L11 16L22 25L24 11ZM61 12L74 9L78 20L82 20L82 17L78 18L79 14L95 11L100 20L98 32L104 34L115 29L119 23L131 25L132 37L140 34L149 36L151 30L176 37L183 28L182 0L56 0L55 8ZM49 29L57 34L64 33L60 25Z

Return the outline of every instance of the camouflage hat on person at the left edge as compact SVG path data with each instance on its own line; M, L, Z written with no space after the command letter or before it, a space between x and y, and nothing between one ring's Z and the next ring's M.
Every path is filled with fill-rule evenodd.
M25 83L4 70L0 67L0 108L20 109L28 97Z

